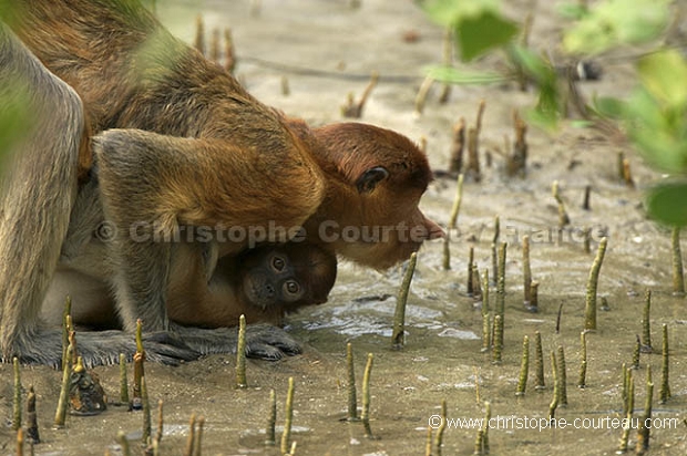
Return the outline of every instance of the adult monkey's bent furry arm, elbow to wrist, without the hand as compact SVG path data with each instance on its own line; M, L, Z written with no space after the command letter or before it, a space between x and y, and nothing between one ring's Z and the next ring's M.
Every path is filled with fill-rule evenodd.
M136 318L167 330L165 290L180 225L250 229L299 226L319 206L318 170L293 151L262 152L225 139L180 138L134 129L98 135L93 151L105 218L116 227L117 305L126 330Z

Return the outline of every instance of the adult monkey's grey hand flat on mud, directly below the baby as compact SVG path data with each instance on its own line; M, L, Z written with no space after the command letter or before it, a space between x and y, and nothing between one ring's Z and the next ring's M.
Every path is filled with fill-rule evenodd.
M201 354L236 353L237 328L199 329L173 324L173 331L193 350ZM246 327L246 356L277 361L284 355L303 352L300 344L286 331L271 324L258 323Z

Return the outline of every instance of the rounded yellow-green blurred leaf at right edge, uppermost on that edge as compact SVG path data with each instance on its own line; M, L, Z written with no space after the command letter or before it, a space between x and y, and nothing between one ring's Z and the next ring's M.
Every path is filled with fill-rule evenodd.
M656 99L675 107L687 103L687 64L675 50L648 54L637 63L639 79Z

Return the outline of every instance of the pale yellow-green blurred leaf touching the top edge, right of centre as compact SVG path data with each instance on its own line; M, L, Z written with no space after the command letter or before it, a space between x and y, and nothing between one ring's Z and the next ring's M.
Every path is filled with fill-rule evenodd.
M567 52L595 54L618 44L657 38L669 18L669 0L606 0L592 7L563 37Z

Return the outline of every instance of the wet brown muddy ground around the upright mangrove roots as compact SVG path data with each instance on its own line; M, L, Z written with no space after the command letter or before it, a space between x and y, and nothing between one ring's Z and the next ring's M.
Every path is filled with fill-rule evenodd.
M678 418L674 428L652 434L654 455L687 453L687 318L684 298L671 294L669 232L646 219L643 189L660 176L646 167L632 149L598 129L576 128L566 122L547 134L531 128L527 135L530 162L526 178L503 174L504 135L512 141L511 113L531 106L532 93L514 84L453 87L448 103L439 104L437 85L429 94L422 115L414 111L414 97L422 69L441 61L442 30L430 23L411 1L362 0L353 9L348 0L263 0L158 2L158 15L174 33L192 41L194 18L203 13L206 29L230 27L237 74L263 102L300 116L312 124L338 122L347 94L359 96L372 71L379 85L363 112L363 122L402 132L413 141L427 138L430 163L448 166L452 126L460 116L474 121L480 100L486 103L482 154L490 152L493 165L483 166L481 183L466 182L458 229L451 232L451 270L442 265L442 243L431 242L419 253L407 315L407 346L390 350L389 334L401 280L400 269L386 273L342 263L329 302L288 319L287 329L305 344L299 356L269 363L248 362L247 390L237 391L233 356L209 356L180 367L147 365L150 396L164 401L163 455L183 453L192 414L205 416L203 450L206 455L276 455L266 447L269 390L278 400L279 424L289 377L295 380L294 434L299 455L421 455L430 417L447 401L450 418L479 418L489 401L493 416L545 418L552 397L548 354L564 346L567 362L567 407L556 416L588 428L492 429L492 455L609 455L618 448L622 429L598 428L604 418L619 418L623 363L632 362L635 335L640 333L646 289L654 294L652 336L655 354L643 354L635 372L636 412L645 402L647 366L654 372L654 416ZM511 1L512 17L523 20L529 2ZM531 42L555 55L563 21L555 6L539 2L534 9ZM555 3L555 2L551 2ZM259 13L252 9L259 8ZM255 12L255 11L254 11ZM407 42L408 33L418 40ZM263 62L260 62L263 61ZM283 66L267 64L278 63ZM499 69L500 56L481 61L478 68ZM586 94L623 94L632 86L632 69L625 59L604 63L599 82L584 83ZM307 69L308 71L301 71ZM288 79L290 94L283 94ZM617 154L629 158L636 188L617 176ZM558 217L551 184L560 182L571 226L558 236ZM581 208L583 190L592 186L591 210ZM437 179L421 206L444 227L455 194L453 179ZM500 216L501 240L507 241L505 350L503 362L492 364L481 349L481 313L465 293L468 250L474 247L480 269L491 267L494 217ZM592 253L584 251L577 230L593 228ZM532 273L540 281L540 312L523 308L523 235L531 237ZM585 284L594 251L603 235L608 250L599 279L599 294L611 310L599 312L598 331L587 335L587 387L576 387L580 365L580 332L583 329ZM383 299L390 294L388 299ZM492 289L492 307L495 291ZM369 299L361 299L371 297ZM377 297L377 298L375 298ZM561 330L555 332L562 308ZM658 404L660 383L660 327L667 324L670 344L673 397ZM534 390L531 371L526 394L515 396L524 335L540 331L545 353L547 387ZM356 353L356 374L362 379L367 353L373 353L371 375L371 428L377 439L363 437L360 424L342 422L347 407L346 343ZM531 363L531 365L533 362ZM119 391L117 369L96 369L111 397ZM40 455L120 454L119 431L131 438L140 435L141 413L111 406L92 417L68 418L65 429L53 431L60 373L48 367L24 367L24 387L34 384L43 443ZM2 416L11 416L11 369L0 366ZM478 391L479 390L479 391ZM360 396L360 386L358 394ZM607 421L606 421L607 423ZM664 423L668 425L669 423ZM577 426L580 427L580 426ZM448 428L443 454L472 454L475 428ZM634 447L636 432L630 434ZM14 454L13 433L0 429L1 454ZM132 443L137 452L139 443ZM136 454L134 452L134 454Z

